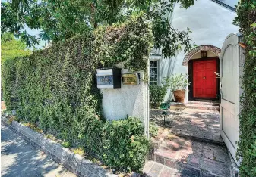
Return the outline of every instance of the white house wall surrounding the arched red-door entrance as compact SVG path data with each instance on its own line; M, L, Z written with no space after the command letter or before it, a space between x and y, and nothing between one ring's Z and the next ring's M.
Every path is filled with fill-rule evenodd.
M189 34L191 39L193 39L191 43L195 42L198 46L213 45L222 48L226 36L230 33L238 32L239 27L232 24L235 15L235 11L229 10L229 8L225 8L216 2L198 0L188 9L180 8L180 5L175 5L172 26L174 29L179 30L191 29L192 33ZM184 57L185 54L183 51L180 51L177 57L172 59L158 57L160 58L159 83L164 77L170 76L172 73L188 73L188 67L182 66ZM156 57L151 56L151 58ZM187 93L188 92L186 92L185 101L188 101ZM168 98L169 92L166 94L165 101L167 101Z

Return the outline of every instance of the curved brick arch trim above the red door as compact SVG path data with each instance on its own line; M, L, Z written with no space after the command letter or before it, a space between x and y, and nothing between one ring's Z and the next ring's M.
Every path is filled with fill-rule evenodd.
M182 65L188 66L188 61L193 57L194 54L200 52L200 51L212 51L214 54L218 55L220 57L220 48L217 48L213 45L200 45L196 48L193 48L191 51L188 51L188 54L183 59Z

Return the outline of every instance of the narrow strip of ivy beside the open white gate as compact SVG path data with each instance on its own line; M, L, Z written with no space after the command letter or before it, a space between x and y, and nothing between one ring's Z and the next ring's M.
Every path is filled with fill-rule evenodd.
M239 113L240 175L256 176L256 0L242 0L236 11L234 23L240 26L246 45Z

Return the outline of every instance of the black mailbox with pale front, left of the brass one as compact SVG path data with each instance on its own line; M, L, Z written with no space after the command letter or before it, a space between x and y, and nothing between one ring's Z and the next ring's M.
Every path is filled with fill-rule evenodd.
M121 88L121 69L109 68L96 70L97 88Z

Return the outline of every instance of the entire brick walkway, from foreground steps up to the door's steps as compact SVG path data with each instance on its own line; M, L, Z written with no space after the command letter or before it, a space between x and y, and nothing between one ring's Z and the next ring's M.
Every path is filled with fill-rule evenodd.
M160 126L152 138L154 150L144 174L158 177L227 177L231 161L220 138L220 113L216 110L150 110L150 122ZM204 141L202 141L204 140ZM209 143L210 142L210 143Z

